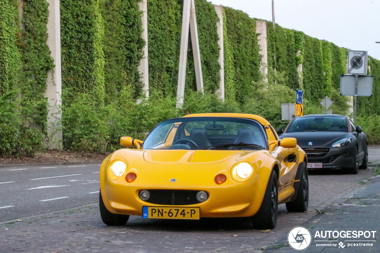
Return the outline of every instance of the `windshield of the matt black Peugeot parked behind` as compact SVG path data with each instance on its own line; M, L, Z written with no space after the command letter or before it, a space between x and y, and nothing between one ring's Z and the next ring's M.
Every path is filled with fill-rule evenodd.
M299 117L293 120L286 133L306 131L347 132L347 121L344 117Z

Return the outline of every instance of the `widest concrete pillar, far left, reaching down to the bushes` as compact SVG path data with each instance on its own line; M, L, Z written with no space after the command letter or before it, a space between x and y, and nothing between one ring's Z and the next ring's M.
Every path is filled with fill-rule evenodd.
M54 70L49 70L46 80L45 97L49 104L47 112L48 148L62 149L62 123L61 123L61 27L59 14L59 0L47 0L49 3L49 19L47 21L47 41L54 59Z

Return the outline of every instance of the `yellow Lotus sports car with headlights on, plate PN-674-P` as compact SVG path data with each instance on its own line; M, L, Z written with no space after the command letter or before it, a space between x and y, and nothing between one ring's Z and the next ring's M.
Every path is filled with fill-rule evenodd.
M158 219L250 217L274 228L278 204L304 212L307 157L294 138L279 140L257 115L192 114L159 123L144 142L123 147L100 168L100 215L125 225L130 215Z

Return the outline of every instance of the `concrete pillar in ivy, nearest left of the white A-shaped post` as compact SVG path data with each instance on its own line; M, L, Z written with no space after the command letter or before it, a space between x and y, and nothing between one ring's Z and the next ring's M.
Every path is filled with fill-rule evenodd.
M144 84L144 90L146 97L149 97L149 72L148 72L148 15L147 15L147 0L139 1L141 21L142 21L142 39L145 41L143 49L144 56L140 60L139 72L141 74L140 81Z

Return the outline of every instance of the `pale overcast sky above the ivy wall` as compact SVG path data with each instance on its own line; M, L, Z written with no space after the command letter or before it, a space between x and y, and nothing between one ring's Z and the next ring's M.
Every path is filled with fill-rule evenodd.
M211 0L272 21L272 0ZM275 22L380 60L380 0L274 0Z

